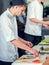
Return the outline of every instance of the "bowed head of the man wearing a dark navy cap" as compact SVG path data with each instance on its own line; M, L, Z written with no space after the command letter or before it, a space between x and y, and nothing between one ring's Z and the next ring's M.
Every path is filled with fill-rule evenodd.
M14 16L22 15L26 9L26 3L24 0L12 0L10 5L11 7L9 10Z

